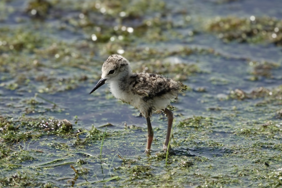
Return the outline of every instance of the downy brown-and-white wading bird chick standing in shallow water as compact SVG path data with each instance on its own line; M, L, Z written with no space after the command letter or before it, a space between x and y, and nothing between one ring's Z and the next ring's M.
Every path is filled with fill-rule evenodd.
M147 119L146 153L151 150L154 135L150 121L152 112L164 111L168 117L168 130L163 149L168 149L173 114L166 107L172 98L178 96L182 83L156 73L134 73L129 61L118 54L109 56L104 62L101 79L90 93L104 83L108 84L115 98L139 109L142 116Z

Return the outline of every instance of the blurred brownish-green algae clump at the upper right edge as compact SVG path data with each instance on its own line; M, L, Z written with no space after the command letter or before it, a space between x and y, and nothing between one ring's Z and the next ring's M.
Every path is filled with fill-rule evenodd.
M215 17L208 21L207 31L218 33L224 42L268 42L281 45L282 22L275 17Z

